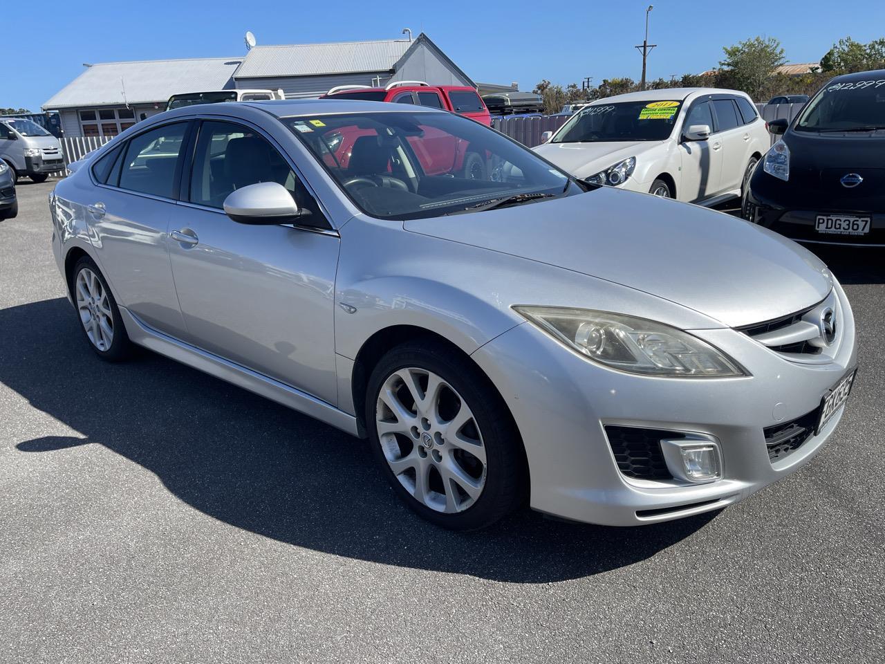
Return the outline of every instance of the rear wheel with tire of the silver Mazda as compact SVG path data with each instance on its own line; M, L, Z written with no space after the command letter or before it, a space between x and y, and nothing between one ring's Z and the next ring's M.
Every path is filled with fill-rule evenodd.
M119 307L95 261L84 256L73 267L71 295L83 336L96 355L107 362L127 359L132 342L126 333Z

